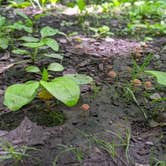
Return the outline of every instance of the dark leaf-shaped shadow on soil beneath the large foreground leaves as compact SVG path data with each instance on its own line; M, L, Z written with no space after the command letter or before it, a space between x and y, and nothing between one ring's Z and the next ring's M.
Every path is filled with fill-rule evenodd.
M62 125L64 123L64 115L57 107L53 107L55 110L48 110L47 108L41 107L41 105L45 105L41 102L33 102L31 105L27 106L30 107L28 110L23 109L18 112L2 114L0 121L1 129L8 131L15 129L25 116L29 117L32 122L36 122L37 125L47 127ZM33 105L35 105L35 107Z

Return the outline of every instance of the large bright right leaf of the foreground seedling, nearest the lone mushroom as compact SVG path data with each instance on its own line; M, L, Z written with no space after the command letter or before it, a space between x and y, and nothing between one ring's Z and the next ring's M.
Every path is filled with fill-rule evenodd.
M58 77L51 82L40 81L40 83L49 93L65 105L72 107L77 104L80 97L80 88L72 79Z

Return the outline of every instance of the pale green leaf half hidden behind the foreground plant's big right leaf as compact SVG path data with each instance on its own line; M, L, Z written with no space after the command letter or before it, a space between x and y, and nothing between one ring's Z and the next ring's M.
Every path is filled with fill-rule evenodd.
M66 74L65 77L73 79L78 85L90 84L93 82L93 78L85 74Z

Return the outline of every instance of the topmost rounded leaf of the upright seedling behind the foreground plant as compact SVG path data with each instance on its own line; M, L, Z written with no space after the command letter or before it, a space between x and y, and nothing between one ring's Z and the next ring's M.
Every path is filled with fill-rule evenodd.
M46 26L44 28L41 29L40 33L41 33L41 37L47 37L47 36L54 36L59 32L59 30L57 29L53 29L49 26Z

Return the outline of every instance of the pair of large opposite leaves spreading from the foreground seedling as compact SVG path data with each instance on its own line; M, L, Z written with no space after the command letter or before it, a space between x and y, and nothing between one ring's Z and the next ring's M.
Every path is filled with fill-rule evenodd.
M58 77L50 82L30 81L9 86L5 92L4 104L12 111L19 110L36 97L39 87L46 89L69 107L77 104L80 96L79 86L76 82L66 77Z

